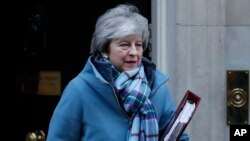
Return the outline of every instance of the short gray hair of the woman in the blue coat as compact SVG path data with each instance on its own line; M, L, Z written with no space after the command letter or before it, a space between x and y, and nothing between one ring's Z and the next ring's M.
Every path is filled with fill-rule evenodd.
M113 39L136 34L142 37L144 50L148 46L148 20L132 4L120 4L107 10L96 22L91 41L92 55L107 52Z

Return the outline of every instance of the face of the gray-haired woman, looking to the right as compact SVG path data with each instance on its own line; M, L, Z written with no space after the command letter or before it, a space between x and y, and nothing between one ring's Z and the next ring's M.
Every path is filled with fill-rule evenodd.
M143 41L140 36L128 35L112 40L109 45L108 58L120 71L133 70L141 63Z

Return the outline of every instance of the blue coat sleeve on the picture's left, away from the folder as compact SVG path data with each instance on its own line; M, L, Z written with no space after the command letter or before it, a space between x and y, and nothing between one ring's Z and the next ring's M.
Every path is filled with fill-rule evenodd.
M50 120L46 141L80 140L83 113L79 91L72 82L65 88Z

